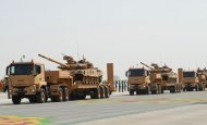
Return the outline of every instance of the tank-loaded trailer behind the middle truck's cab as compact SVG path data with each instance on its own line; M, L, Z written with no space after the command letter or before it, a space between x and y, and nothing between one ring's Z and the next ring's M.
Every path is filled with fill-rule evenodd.
M171 93L181 92L181 83L176 82L176 74L172 72L172 68L167 65L160 67L155 63L151 64L151 67L141 63L150 68L151 89L154 88L156 93L163 93L163 90L170 90Z

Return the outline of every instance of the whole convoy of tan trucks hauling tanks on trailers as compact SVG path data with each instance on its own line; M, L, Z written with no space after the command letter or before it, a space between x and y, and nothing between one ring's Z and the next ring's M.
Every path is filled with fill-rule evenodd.
M59 64L56 71L46 71L44 63L12 62L7 67L7 76L0 82L0 92L8 91L9 99L20 104L23 98L31 103L61 102L83 100L86 96L92 99L109 98L115 90L113 85L113 64L107 64L107 82L102 82L104 73L83 58L75 61L72 57L63 55L66 63L38 54L50 62ZM178 70L178 76L172 68L151 66L141 62L143 67L131 67L126 71L129 92L136 95L159 95L165 90L171 93L183 91L204 91L207 86L207 70Z

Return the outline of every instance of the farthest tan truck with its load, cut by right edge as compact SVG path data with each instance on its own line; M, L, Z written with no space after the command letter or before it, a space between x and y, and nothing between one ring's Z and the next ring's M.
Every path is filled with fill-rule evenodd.
M180 74L182 74L183 91L205 90L206 73L204 70L183 71L182 68L179 68L179 71Z

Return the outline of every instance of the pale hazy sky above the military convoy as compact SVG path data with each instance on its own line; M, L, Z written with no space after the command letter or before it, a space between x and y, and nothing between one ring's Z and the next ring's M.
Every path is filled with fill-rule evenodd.
M145 62L196 70L207 66L206 0L0 0L0 77L13 60L57 64L61 53L84 55L125 78ZM139 64L139 66L142 66Z

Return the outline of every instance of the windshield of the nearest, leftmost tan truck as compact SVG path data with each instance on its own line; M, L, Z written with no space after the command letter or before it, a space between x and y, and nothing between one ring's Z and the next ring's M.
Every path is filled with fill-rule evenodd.
M11 75L32 75L34 71L33 64L12 64L10 65Z

